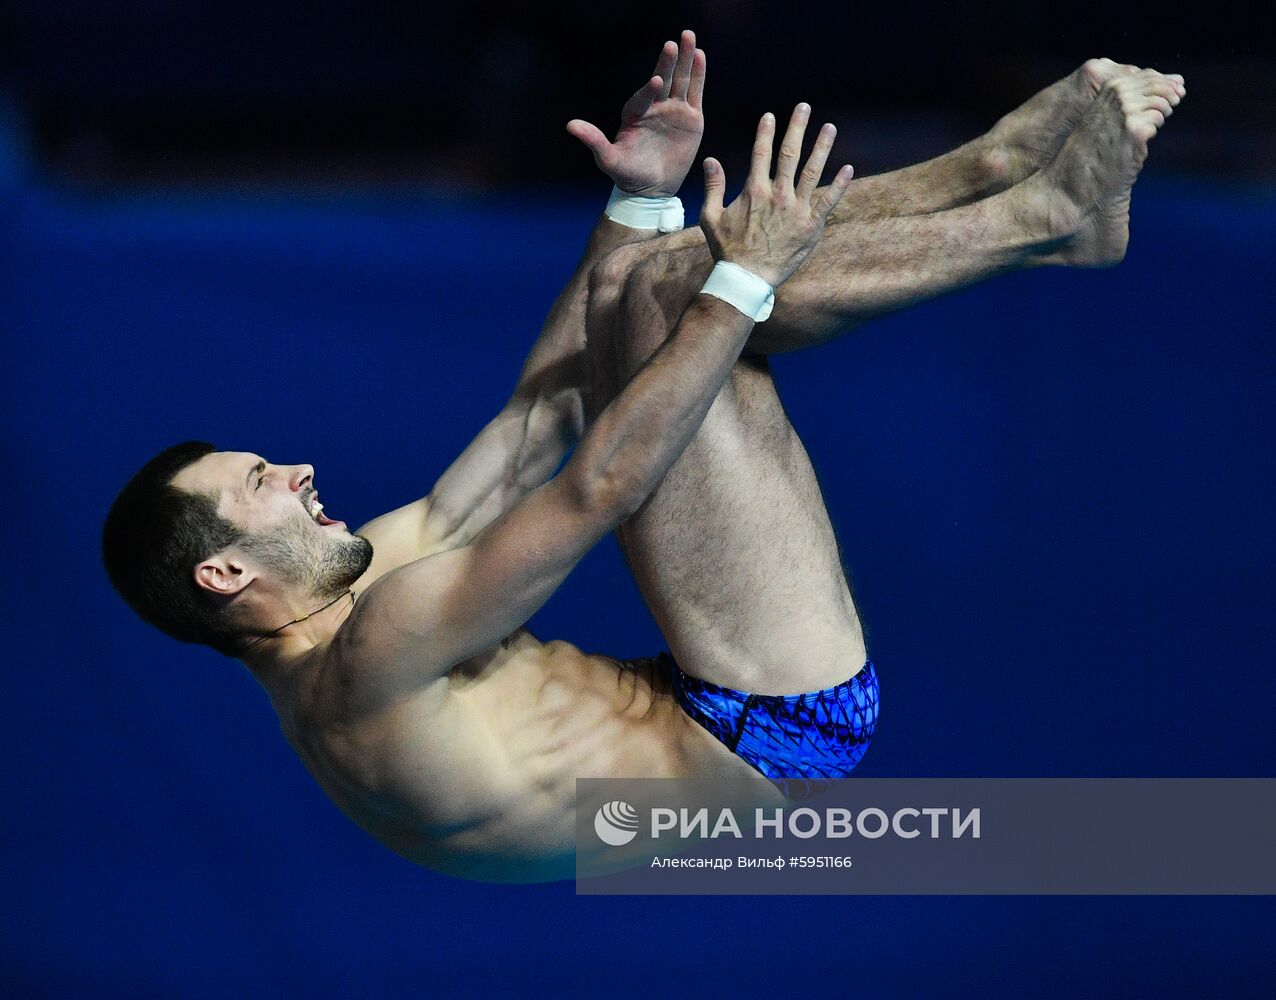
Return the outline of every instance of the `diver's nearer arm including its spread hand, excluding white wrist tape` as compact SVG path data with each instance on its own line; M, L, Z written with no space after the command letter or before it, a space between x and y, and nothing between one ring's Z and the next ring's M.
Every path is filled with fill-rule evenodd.
M758 128L745 191L722 208L725 177L706 161L702 224L720 260L771 284L787 278L819 239L850 182L815 184L832 145L817 140L796 190L805 116L795 114L772 182L775 122ZM813 200L814 199L814 200ZM347 622L364 659L388 667L392 689L420 686L521 626L581 557L642 505L699 429L753 320L701 295L674 333L598 415L563 471L490 524L470 545L412 562L379 580Z

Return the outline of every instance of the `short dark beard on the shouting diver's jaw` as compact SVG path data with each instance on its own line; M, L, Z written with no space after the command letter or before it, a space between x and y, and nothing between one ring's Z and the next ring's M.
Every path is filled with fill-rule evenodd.
M316 601L348 591L373 561L373 543L364 536L316 534L300 518L271 532L245 534L239 545L283 583L309 591Z

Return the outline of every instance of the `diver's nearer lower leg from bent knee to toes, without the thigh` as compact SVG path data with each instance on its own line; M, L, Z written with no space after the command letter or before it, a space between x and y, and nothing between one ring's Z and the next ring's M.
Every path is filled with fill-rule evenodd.
M1154 70L1120 74L1088 103L1055 158L1021 184L947 212L829 226L777 291L775 312L754 332L748 353L814 347L865 320L1011 270L1118 263L1147 142L1178 102L1171 78ZM1147 115L1154 117L1139 117ZM694 228L618 251L602 264L601 282L623 283L641 261L669 251L679 253L684 278L699 287L713 261Z

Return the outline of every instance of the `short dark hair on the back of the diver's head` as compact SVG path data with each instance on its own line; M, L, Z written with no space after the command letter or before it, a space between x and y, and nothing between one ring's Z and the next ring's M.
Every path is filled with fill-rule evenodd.
M216 450L184 441L147 462L115 497L102 528L102 562L134 611L184 643L234 656L241 639L226 607L195 583L193 570L244 532L217 513L217 499L172 485L188 466Z

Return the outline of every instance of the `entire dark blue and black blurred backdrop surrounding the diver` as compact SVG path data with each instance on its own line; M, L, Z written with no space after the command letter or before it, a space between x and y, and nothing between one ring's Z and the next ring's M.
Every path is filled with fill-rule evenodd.
M882 676L861 774L1276 774L1257 8L8 0L0 997L1276 996L1271 898L435 875L328 802L241 667L111 593L105 511L177 440L310 462L351 524L425 494L605 203L564 124L610 131L681 27L736 180L758 114L798 99L864 175L1087 56L1187 77L1124 264L1007 276L775 372ZM610 542L531 626L662 647Z

